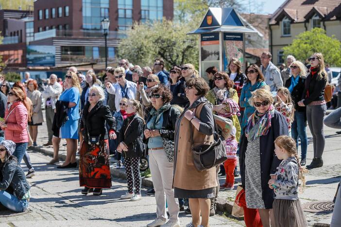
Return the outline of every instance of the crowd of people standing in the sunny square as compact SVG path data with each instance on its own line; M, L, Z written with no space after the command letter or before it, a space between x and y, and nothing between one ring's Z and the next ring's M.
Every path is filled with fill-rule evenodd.
M264 227L307 226L297 193L299 178L304 185L307 123L314 151L307 169L323 166L324 57L313 53L307 69L288 56L282 72L271 62L270 52L263 52L260 60L260 67L248 65L245 73L235 58L227 72L209 67L209 81L189 63L173 65L168 72L162 58L154 60L153 69L122 59L118 67L107 67L102 78L93 70L83 75L70 67L64 81L51 74L42 92L29 74L13 87L2 81L0 203L9 209L16 203L18 212L28 207L30 187L20 162L24 159L29 168L26 177L34 176L26 150L30 142L37 146L44 100L48 142L43 146L53 145L54 150L48 164L59 162L60 141L66 139L66 160L57 168L76 168L79 152L83 195L102 195L103 188L111 187L109 155L115 154L117 168L127 175L128 190L120 198L142 199L139 162L148 156L156 200L156 218L148 227L180 226L184 205L192 215L187 227L208 227L219 191L234 190L238 162L246 220L258 217ZM227 131L217 128L217 116L230 120ZM222 185L220 166L198 171L192 153L193 147L212 144L217 132L225 133ZM21 191L13 194L10 188L17 181Z

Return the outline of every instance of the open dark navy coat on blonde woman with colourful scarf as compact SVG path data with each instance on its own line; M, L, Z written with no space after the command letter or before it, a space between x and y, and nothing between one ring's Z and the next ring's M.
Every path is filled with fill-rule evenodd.
M245 128L244 128L245 131ZM271 127L267 135L260 136L260 177L262 185L262 197L266 209L273 208L273 190L269 188L268 181L270 174L277 171L277 167L281 160L274 153L274 141L280 135L288 135L288 123L286 118L275 110L274 116L271 118ZM242 135L239 147L239 164L241 184L245 188L245 152L248 140L245 133Z

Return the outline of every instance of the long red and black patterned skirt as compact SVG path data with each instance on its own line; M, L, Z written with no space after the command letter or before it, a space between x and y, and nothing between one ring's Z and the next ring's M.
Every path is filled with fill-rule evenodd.
M89 145L83 141L79 157L80 186L111 187L108 140L100 141L100 145Z

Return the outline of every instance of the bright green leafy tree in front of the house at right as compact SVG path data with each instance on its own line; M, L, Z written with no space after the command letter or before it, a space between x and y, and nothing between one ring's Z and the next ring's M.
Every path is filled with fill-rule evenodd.
M335 38L335 35L327 36L321 28L300 33L283 50L284 56L291 54L301 62L305 62L313 53L321 52L325 63L341 66L341 42Z

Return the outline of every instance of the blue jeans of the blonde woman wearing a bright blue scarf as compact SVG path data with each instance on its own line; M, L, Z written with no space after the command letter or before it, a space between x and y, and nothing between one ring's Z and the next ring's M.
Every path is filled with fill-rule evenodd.
M298 150L298 137L301 139L301 160L307 157L307 122L305 112L295 112L294 121L291 124L291 137L296 141L296 149Z

